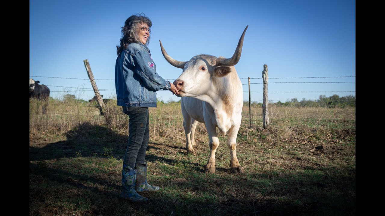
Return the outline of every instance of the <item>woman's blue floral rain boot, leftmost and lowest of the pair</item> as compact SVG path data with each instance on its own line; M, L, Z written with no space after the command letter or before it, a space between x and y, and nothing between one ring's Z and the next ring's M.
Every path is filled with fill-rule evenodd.
M121 197L134 203L146 202L148 199L135 191L136 175L135 169L123 164Z

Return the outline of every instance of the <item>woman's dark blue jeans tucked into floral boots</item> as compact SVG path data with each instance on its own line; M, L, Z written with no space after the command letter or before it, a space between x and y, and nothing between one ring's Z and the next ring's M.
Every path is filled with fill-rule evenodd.
M147 107L123 106L123 113L130 117L128 145L123 164L134 168L136 162L146 161L146 149L150 139L150 118Z

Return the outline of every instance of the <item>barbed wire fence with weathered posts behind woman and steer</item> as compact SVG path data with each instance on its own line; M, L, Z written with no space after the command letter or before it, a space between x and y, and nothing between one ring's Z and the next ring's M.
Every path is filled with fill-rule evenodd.
M87 66L86 66L87 68ZM87 71L88 72L88 71ZM267 72L267 65L266 65L266 72ZM91 72L92 73L92 72ZM55 79L71 79L71 80L90 80L90 78L69 78L69 77L54 77L54 76L30 76L30 77L42 77L42 78L55 78ZM263 79L263 78L251 78L251 77L248 77L248 78L240 78L240 80L248 80L248 83L242 83L242 85L248 85L249 89L248 91L243 91L244 93L249 93L249 107L243 107L243 109L249 109L249 126L251 127L251 123L252 123L252 113L251 113L251 109L262 109L262 112L266 115L268 115L268 110L271 109L271 108L313 108L313 107L316 107L316 108L325 108L327 107L326 104L323 104L323 105L317 105L317 106L306 106L306 105L300 105L300 103L297 103L295 104L295 106L291 105L290 103L292 103L293 101L292 100L268 100L267 99L267 93L355 93L355 91L267 91L267 85L268 85L268 79L313 79L313 78L355 78L356 76L312 76L312 77L272 77L272 78L268 78L266 77L265 80L261 83L251 83L250 80L253 80L253 79ZM92 77L93 78L93 77ZM94 79L94 82L95 80L98 80L98 81L113 81L113 79ZM175 79L165 79L165 80L175 80ZM91 81L92 82L92 81ZM277 82L271 82L272 83L295 83L295 84L298 84L298 83L355 83L355 81L325 81L325 82L319 82L319 81L309 81L309 82L286 82L286 81L277 81ZM263 84L265 87L264 89L266 88L266 90L264 91L251 91L251 85L253 84ZM72 87L72 86L55 86L55 85L46 85L46 86L49 86L49 87L57 87L57 88L69 88L69 89L75 89L75 90L62 90L62 91L50 91L50 92L82 92L82 91L95 91L94 89L94 86L93 88L80 88L80 87ZM115 89L99 89L98 91L115 91ZM258 100L258 101L251 101L251 93L263 93L264 95L266 95L266 97L264 97L264 100ZM262 106L258 105L260 104L261 102L264 102L262 103ZM276 103L273 103L273 102L280 102L281 104L278 105L278 106L274 106ZM286 105L282 105L282 103L285 102ZM322 102L322 103L325 103L325 101L314 101L314 102ZM334 103L334 102L338 102L338 103L341 103L341 102L346 102L346 103L354 103L355 104L355 100L346 100L346 101L343 101L343 100L327 100L328 103ZM253 107L251 106L253 104ZM273 105L273 106L270 106L270 105ZM79 107L86 107L86 108L95 108L95 105L69 105L69 104L60 104L60 105L54 105L54 106L79 106ZM99 104L100 106L100 104ZM180 108L156 108L158 110L180 110ZM152 108L150 108L150 110L153 110ZM51 114L51 115L70 115L70 116L86 116L86 115L75 115L75 114L68 114L68 113L47 113L47 114ZM264 116L264 115L263 115ZM96 118L102 118L104 116L102 115L99 115L99 116L89 116L89 117L96 117ZM119 119L127 119L126 117L122 116L121 118L120 117L115 117L115 118L119 118ZM263 121L265 121L265 119L267 119L267 123L265 125L265 123L263 123L263 128L266 128L269 124L268 124L268 116L265 116L262 118ZM309 120L309 119L313 119L313 118L297 118L297 119L302 119L302 120ZM335 121L336 119L323 119L325 121ZM275 121L275 120L273 120Z

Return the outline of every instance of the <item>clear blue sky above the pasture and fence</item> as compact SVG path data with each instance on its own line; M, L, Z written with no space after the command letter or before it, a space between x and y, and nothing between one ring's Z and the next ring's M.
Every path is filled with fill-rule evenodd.
M241 59L235 68L240 78L261 78L268 65L269 100L302 98L336 93L274 93L272 91L355 91L355 77L273 79L280 77L355 76L356 15L352 0L270 0L270 1L30 1L29 75L49 86L50 96L73 94L89 100L93 91L83 60L88 59L99 89L115 89L116 45L121 27L131 15L143 12L152 22L149 48L157 72L175 80L181 69L164 59L159 46L179 61L194 55L231 57L239 37L249 25ZM247 79L241 79L248 83ZM353 82L353 83L273 83ZM252 79L251 83L261 83ZM56 86L65 86L56 87ZM73 87L73 88L68 88ZM77 89L76 89L77 88ZM252 84L251 91L262 91ZM90 90L90 89L84 89ZM244 85L248 91L248 85ZM112 98L115 91L100 91ZM170 91L158 91L164 101L180 98ZM248 100L248 93L244 93ZM262 93L251 93L251 101Z

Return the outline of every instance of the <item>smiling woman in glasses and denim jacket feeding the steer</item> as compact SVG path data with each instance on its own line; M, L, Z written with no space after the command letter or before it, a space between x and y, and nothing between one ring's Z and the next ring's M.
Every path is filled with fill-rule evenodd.
M176 87L156 73L149 48L152 22L144 14L132 15L122 27L117 48L115 87L117 105L129 116L129 139L123 158L122 193L124 199L144 202L148 199L137 192L157 191L159 186L147 183L146 149L149 135L149 107L156 107L156 91Z

